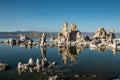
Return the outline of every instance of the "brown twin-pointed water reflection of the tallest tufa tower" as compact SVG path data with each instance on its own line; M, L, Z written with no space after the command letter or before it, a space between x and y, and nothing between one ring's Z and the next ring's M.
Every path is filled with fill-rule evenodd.
M62 46L58 47L58 52L62 54L64 64L67 63L67 58L70 57L72 62L76 61L76 57L80 54L80 51L84 49L84 46Z

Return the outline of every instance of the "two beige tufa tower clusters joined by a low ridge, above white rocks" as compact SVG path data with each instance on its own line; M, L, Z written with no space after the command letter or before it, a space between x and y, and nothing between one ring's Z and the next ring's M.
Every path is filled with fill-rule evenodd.
M58 33L58 43L78 43L92 41L94 39L105 39L105 41L111 41L115 39L115 31L112 29L110 32L110 30L105 30L103 27L100 27L93 37L83 37L81 32L77 29L76 24L72 23L70 28L68 28L68 22L65 22L62 26L62 32Z

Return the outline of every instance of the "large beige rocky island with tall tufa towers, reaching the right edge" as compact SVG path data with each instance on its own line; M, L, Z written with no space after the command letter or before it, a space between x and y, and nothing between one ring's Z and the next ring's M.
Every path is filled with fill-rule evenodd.
M120 49L120 39L116 38L115 30L111 29L105 30L100 27L94 36L82 36L81 32L77 29L77 26L73 23L71 27L68 28L68 23L65 22L62 27L62 32L58 33L58 39L50 39L50 42L60 46L88 46L91 49L99 49L102 47L108 47L109 49L119 50Z

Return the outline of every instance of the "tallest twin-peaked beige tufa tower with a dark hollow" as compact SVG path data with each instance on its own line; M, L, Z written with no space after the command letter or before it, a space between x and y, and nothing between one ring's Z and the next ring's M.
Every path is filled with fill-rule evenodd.
M81 36L81 32L78 31L76 24L71 24L70 29L68 29L68 23L65 22L62 27L62 32L58 33L58 43L75 41L84 41L84 37Z

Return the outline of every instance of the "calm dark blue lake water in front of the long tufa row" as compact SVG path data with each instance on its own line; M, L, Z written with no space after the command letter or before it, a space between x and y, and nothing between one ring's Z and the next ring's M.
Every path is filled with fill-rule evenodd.
M29 58L33 58L34 63L37 58L46 58L50 62L55 61L56 65L40 72L18 74L18 62L27 63ZM0 43L0 61L10 65L10 69L0 71L0 80L48 80L49 76L55 75L59 80L113 80L120 76L119 51L114 54L111 50L100 52L80 46L43 49Z

